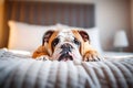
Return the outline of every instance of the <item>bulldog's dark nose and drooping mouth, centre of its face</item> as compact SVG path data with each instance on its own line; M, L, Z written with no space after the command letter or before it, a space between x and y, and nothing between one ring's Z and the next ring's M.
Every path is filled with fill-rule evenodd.
M73 50L73 46L69 43L65 43L63 45L61 45L61 56L59 57L59 61L73 61L73 57L72 57L72 50Z

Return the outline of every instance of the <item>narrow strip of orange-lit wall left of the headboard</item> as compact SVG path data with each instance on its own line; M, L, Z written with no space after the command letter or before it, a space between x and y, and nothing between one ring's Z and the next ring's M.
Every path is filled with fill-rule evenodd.
M3 4L4 4L4 0L0 0L0 47L3 46L2 45L2 30L3 30Z

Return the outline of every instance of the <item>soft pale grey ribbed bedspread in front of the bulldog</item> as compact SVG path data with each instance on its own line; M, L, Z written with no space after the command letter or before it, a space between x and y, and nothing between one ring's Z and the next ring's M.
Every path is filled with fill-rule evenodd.
M0 88L133 88L133 58L42 62L1 50Z

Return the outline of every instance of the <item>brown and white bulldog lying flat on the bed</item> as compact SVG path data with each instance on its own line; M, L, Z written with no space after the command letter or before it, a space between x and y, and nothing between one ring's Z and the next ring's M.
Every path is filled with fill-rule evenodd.
M99 53L91 46L90 37L84 30L65 29L49 30L44 33L42 45L32 57L50 61L102 61Z

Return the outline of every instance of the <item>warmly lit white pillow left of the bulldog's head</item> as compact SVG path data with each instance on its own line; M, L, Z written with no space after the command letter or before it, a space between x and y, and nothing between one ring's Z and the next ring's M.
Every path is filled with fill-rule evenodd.
M42 44L42 36L45 31L55 28L55 25L41 26L16 21L9 21L8 24L10 28L8 47L30 52Z

